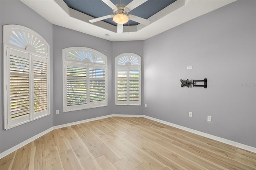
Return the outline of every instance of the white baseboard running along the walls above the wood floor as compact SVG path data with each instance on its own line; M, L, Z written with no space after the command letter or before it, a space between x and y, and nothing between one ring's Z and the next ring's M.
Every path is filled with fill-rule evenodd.
M149 117L149 116L146 116L146 115L118 115L118 114L112 114L112 115L106 115L106 116L96 117L96 118L92 118L92 119L86 119L86 120L83 120L83 121L67 123L67 124L63 124L63 125L57 125L57 126L48 128L47 130L44 130L43 132L41 132L39 134L36 134L35 136L25 140L24 142L21 142L20 144L17 144L16 146L13 146L12 148L10 148L10 149L0 153L0 159L3 158L4 156L7 156L8 154L14 152L15 150L21 148L22 146L25 146L26 144L32 142L33 140L36 140L37 138L43 136L44 134L54 130L54 129L68 127L68 126L77 125L77 124L80 124L80 123L85 123L85 122L90 122L90 121L96 121L96 120L104 119L104 118L108 118L108 117L144 117L144 118L147 118L147 119L150 119L150 120L153 120L153 121L157 121L159 123L163 123L165 125L169 125L169 126L172 126L172 127L180 128L182 130L186 130L188 132L192 132L194 134L198 134L198 135L204 136L206 138L217 140L219 142L230 144L232 146L236 146L238 148L242 148L242 149L245 149L245 150L248 150L248 151L256 153L256 148L254 148L252 146L247 146L245 144L234 142L232 140L228 140L228 139L225 139L225 138L220 138L218 136L214 136L214 135L211 135L211 134L200 132L200 131L197 131L197 130L194 130L194 129L191 129L191 128L182 127L180 125L176 125L176 124L173 124L173 123L170 123L170 122L162 121L160 119L156 119L156 118Z

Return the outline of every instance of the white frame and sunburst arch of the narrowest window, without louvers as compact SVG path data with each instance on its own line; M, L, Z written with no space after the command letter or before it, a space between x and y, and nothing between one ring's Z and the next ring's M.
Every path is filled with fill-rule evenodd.
M136 59L136 61L134 61ZM127 101L118 101L118 69L127 71ZM139 99L138 101L130 101L129 100L129 72L132 69L138 69L139 71ZM133 105L140 106L141 105L141 57L135 53L122 53L118 55L115 59L115 103L116 105Z

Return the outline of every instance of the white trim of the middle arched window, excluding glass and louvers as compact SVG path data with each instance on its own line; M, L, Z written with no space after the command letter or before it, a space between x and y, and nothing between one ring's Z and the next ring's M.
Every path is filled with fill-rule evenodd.
M75 59L71 59L68 57L69 52L74 52L74 51L86 51L86 52L91 52L95 54L94 56L97 57L102 57L102 63L90 63L86 62L86 59L84 61L79 61ZM88 60L87 60L88 61ZM97 108L97 107L104 107L108 105L108 83L107 83L107 57L103 53L96 51L94 49L88 48L88 47L68 47L65 49L62 49L62 76L63 76L63 112L70 112L70 111L78 111L78 110L84 110L84 109L91 109L91 108ZM70 66L81 66L86 68L86 96L87 96L87 103L81 106L74 105L74 106L67 106L67 99L66 99L66 81L67 81L67 76L66 76L66 67ZM91 67L92 66L92 67ZM105 70L105 100L104 101L96 101L96 102L90 102L89 99L89 94L90 94L90 68L100 68Z

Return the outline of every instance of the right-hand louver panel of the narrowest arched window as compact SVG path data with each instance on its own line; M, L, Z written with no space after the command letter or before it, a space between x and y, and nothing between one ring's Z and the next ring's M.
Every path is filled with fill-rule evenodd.
M129 101L139 101L139 70L129 71Z

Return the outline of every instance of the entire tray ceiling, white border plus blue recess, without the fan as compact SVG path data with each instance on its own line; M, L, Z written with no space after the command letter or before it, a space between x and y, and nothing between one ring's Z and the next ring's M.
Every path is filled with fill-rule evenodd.
M116 33L117 27L115 24L111 23L111 19L110 21L99 21L95 23L88 21L94 19L94 17L104 16L104 12L107 15L109 14L108 12L110 12L110 14L113 13L113 10L102 3L101 0L78 0L79 3L84 3L84 5L87 6L87 10L84 11L86 14L80 12L82 11L81 9L78 11L79 9L75 10L76 8L74 6L72 7L70 4L67 5L68 1L76 0L65 0L67 4L63 0L21 1L52 24L110 41L132 41L146 40L236 0L176 0L175 2L174 0L148 0L148 2L137 7L138 13L134 13L134 15L143 15L142 18L150 20L150 24L144 26L129 21L129 26L124 26L124 32L119 34ZM165 1L167 2L164 3ZM114 4L119 2L120 1L113 0ZM122 0L124 4L128 4L129 2L130 0ZM157 5L157 3L161 2L164 3L164 5ZM79 3L76 5L79 6ZM170 4L168 5L168 3ZM83 7L84 5L80 6ZM88 12L88 8L92 8L92 11ZM134 11L136 12L136 8ZM133 12L133 10L131 12Z

